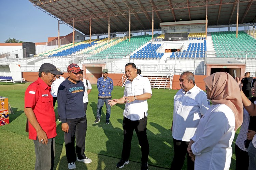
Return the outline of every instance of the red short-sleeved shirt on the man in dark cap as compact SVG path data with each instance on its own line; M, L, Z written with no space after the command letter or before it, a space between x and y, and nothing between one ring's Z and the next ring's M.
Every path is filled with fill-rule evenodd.
M38 78L37 81L28 86L25 92L26 107L33 109L35 117L48 139L57 136L51 87L41 78ZM30 123L28 124L28 138L37 139L37 132Z

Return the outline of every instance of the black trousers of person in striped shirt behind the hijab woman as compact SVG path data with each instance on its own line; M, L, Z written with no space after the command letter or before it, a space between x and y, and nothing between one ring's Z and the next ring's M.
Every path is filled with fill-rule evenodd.
M244 170L249 167L249 156L248 152L243 151L237 145L235 145L236 153L236 170Z

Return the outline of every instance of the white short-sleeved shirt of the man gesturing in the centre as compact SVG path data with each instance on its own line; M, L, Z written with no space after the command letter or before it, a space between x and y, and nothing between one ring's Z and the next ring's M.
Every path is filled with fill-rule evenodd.
M137 96L144 93L150 93L152 90L148 78L141 77L139 74L133 81L125 83L124 96ZM124 117L130 120L140 120L147 116L147 100L134 100L125 104Z

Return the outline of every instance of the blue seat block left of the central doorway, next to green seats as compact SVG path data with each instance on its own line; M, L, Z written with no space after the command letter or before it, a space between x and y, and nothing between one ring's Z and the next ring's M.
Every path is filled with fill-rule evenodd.
M137 51L130 58L161 58L163 53L157 53L156 50L161 46L161 44L147 44L141 50Z

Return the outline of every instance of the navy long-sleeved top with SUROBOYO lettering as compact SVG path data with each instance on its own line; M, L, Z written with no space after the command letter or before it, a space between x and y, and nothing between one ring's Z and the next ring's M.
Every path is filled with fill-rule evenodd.
M67 119L76 119L85 116L84 112L84 83L72 83L68 78L58 88L58 113L62 123Z

